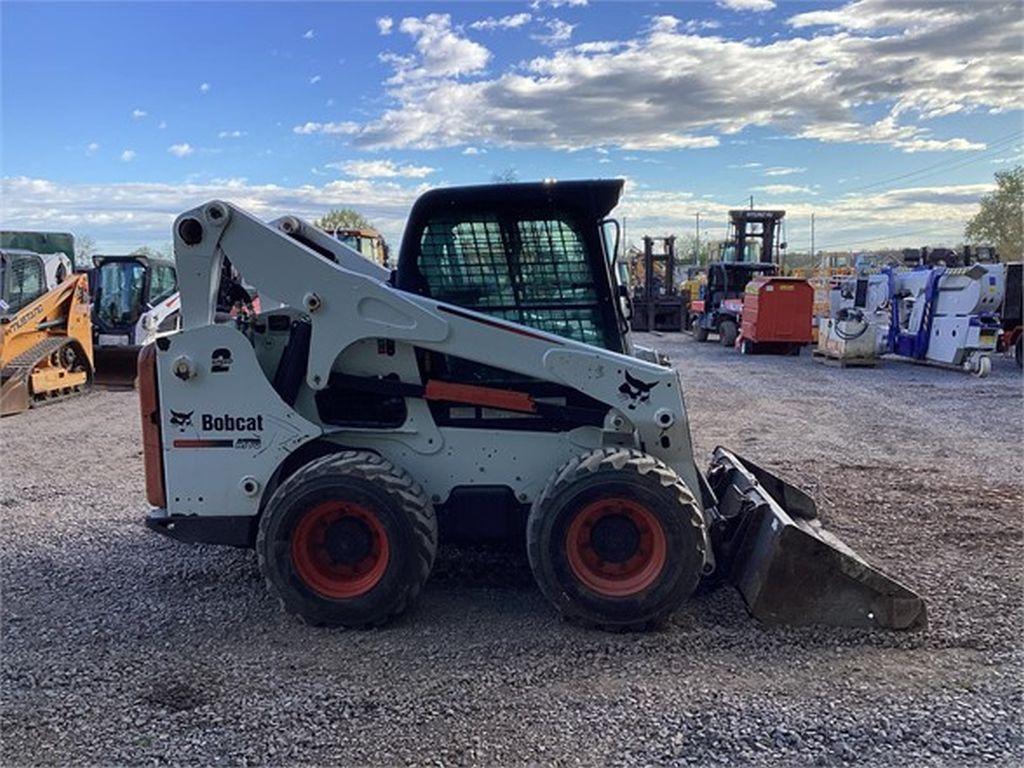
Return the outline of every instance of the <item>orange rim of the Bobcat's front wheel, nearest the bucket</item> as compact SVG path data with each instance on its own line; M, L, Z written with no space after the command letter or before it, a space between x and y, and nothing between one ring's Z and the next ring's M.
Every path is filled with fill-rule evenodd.
M630 499L601 499L581 509L565 535L573 575L605 597L630 597L650 587L665 568L662 523Z

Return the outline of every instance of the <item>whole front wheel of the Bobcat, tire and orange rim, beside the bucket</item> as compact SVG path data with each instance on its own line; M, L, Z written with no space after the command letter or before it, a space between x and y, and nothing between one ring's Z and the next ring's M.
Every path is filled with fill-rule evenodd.
M599 449L555 472L534 502L526 554L545 597L567 618L643 629L696 589L703 516L671 468L633 449Z

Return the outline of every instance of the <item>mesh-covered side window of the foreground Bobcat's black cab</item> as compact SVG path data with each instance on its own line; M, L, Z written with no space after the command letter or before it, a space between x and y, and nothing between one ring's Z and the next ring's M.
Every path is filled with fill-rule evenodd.
M420 249L433 298L605 345L593 272L569 223L436 218L424 228Z

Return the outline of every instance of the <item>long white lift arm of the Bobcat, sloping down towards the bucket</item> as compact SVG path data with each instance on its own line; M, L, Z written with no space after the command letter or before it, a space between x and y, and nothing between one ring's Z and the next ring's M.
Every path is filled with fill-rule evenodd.
M338 244L334 253L343 255L332 261L221 201L183 214L174 234L186 330L213 322L216 279L226 257L247 281L257 287L272 286L274 299L308 314L306 384L312 390L328 386L339 350L362 339L387 337L453 352L474 362L558 381L607 404L612 412L609 423L617 424L615 431L637 429L641 444L651 450L656 445L658 457L691 488L700 487L675 371L396 291L365 267L352 268L354 259L345 258L344 246ZM288 268L282 269L282 264ZM625 393L627 374L644 382L646 391L632 398ZM635 418L634 411L642 418Z

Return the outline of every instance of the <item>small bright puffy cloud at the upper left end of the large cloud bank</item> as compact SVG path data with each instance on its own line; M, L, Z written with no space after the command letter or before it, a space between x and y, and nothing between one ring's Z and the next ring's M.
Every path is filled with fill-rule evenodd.
M468 75L479 72L490 60L490 51L452 28L447 13L429 13L423 18L407 16L398 30L413 38L418 55L385 56L395 67L392 84Z

